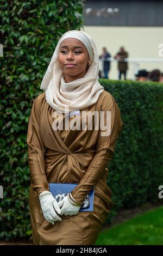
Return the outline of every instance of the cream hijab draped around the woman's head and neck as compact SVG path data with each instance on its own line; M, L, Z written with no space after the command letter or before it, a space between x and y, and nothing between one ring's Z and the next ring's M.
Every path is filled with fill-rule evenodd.
M91 60L83 78L66 83L58 62L59 47L66 38L76 38L86 46ZM46 101L56 111L69 113L89 107L97 102L104 87L98 82L99 60L94 40L82 31L68 31L61 36L51 62L41 82L40 89L46 90Z

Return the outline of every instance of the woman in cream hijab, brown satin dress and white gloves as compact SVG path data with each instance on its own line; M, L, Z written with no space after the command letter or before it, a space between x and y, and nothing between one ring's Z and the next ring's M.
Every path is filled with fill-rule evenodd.
M41 83L45 92L34 100L28 124L34 245L95 244L113 205L106 167L114 154L122 120L114 97L98 82L98 71L98 53L90 35L74 30L61 36ZM56 129L54 114L62 114L65 124L68 113L76 114L70 115L70 121L76 117L79 121L83 111L103 112L101 123L108 117L106 111L111 113L110 135L102 135L101 126L95 129L95 118L92 129L87 123L85 130L70 126ZM49 182L78 185L71 196L57 203ZM79 211L94 185L93 211Z

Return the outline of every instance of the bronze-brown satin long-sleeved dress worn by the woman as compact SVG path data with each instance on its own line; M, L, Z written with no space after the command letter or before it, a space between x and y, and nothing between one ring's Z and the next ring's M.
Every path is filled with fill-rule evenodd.
M82 118L82 111L104 111L105 121L106 111L110 111L110 135L102 136L100 125L95 129L95 119L92 119L92 130L87 124L85 130L54 129L55 109L46 102L45 92L33 102L27 133L33 245L93 245L113 205L112 191L106 185L107 165L123 125L120 108L114 97L104 90L95 104L80 109L78 118ZM70 117L70 121L74 118ZM73 216L58 214L61 222L54 225L48 222L38 196L49 190L49 182L78 184L72 196L80 203L95 185L93 211L79 211Z

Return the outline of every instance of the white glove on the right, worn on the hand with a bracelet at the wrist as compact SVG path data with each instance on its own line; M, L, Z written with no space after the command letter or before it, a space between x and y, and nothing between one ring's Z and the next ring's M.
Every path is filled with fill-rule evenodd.
M59 207L61 207L61 214L60 215L77 215L80 207L81 206L77 206L77 205L73 205L69 200L68 200L68 195L66 197L64 197L59 203L58 203Z

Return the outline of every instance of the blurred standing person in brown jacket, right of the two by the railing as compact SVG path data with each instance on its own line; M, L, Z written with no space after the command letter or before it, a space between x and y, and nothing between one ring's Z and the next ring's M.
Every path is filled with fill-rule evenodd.
M128 70L128 63L124 59L128 58L128 53L124 50L124 47L120 48L120 51L117 52L115 59L118 60L118 78L121 80L121 75L124 75L124 80L126 80L126 73Z

